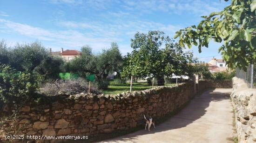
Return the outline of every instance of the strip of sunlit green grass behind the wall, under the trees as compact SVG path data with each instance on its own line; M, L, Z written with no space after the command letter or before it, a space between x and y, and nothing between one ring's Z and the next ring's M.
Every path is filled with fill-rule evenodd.
M170 86L170 85L175 85L175 83L165 84L165 85ZM156 86L154 86L154 87L156 87ZM145 89L149 89L149 88L152 88L152 85L148 85L148 83L146 83L146 82L133 83L132 92L133 91L145 90ZM130 91L130 83L115 84L114 81L110 81L108 89L103 90L102 93L104 93L104 94L117 94L117 93L123 93L123 92L126 93L128 91Z

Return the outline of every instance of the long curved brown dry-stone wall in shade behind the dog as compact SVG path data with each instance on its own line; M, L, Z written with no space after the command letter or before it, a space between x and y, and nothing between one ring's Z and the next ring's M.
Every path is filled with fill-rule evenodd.
M212 87L203 81L200 89ZM212 82L212 81L210 81ZM209 85L209 87L205 86ZM219 85L219 84L218 84ZM5 135L98 135L128 130L144 125L143 115L157 120L181 109L194 97L194 83L187 82L170 87L155 87L133 93L95 95L80 93L46 105L22 106L13 121L1 121L0 141ZM4 106L6 113L14 107ZM16 142L19 140L12 140ZM51 140L51 143L55 140ZM45 142L47 140L36 140Z

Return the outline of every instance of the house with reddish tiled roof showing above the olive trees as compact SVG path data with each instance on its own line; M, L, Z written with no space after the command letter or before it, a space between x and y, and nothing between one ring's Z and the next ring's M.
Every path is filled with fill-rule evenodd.
M67 62L71 61L76 56L81 56L82 55L81 51L78 51L78 50L63 50L63 48L61 48L61 51L57 51L57 52L52 52L52 49L50 48L50 53L53 54L53 55L62 56L63 59Z

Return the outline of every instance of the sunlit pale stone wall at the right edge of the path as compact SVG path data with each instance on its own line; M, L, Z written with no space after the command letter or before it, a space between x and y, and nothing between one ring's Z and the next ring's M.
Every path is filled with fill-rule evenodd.
M256 143L256 89L234 77L232 104L236 111L236 131L239 143Z

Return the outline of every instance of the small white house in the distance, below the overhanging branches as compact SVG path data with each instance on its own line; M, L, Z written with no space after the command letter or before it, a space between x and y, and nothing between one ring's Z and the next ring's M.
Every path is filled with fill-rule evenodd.
M226 62L223 59L216 59L213 57L210 62L208 62L209 71L211 73L222 72L228 69Z

